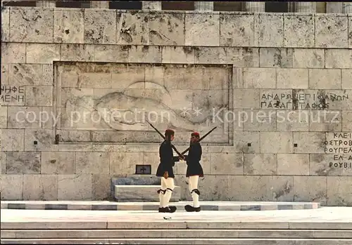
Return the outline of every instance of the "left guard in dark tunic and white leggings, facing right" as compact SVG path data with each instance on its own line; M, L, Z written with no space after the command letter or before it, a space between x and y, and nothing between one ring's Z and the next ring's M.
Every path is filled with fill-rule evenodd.
M175 161L180 161L181 157L174 157L171 141L175 138L175 132L171 129L165 131L165 140L159 147L160 164L156 171L156 176L161 177L161 189L158 190L160 206L159 213L174 213L176 206L169 206L172 191L175 188L173 166Z

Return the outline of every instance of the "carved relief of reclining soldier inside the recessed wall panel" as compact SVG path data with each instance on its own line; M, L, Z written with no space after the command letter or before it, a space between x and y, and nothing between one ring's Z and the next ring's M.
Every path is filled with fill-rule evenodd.
M134 88L141 84L149 84L153 90ZM184 110L185 107L177 107L173 103L172 91L168 93L163 86L144 82L135 83L125 91L114 91L102 96L84 94L84 89L63 91L66 92L67 100L62 101L61 127L66 129L150 131L146 124L146 119L149 119L159 128L174 128L179 132L202 131L215 124L223 128L221 122L217 124L215 121L214 124L213 112L227 110L227 104L218 102L217 98L212 100L204 96L202 102L198 102L200 112L192 114ZM89 92L92 90L89 89ZM184 97L187 99L187 96ZM193 98L185 101L186 104L191 109Z

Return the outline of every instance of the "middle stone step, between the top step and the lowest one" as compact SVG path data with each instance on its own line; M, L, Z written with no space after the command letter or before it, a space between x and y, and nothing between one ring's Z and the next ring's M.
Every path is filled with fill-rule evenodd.
M352 230L1 230L2 239L61 238L310 238L352 239Z

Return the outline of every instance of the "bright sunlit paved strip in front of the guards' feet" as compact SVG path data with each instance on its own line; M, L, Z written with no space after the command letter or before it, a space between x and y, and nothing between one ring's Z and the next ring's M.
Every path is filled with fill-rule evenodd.
M263 222L335 222L351 223L352 207L322 207L310 210L280 211L201 211L187 213L158 213L157 211L84 211L84 210L15 210L1 209L1 223L52 221L158 222L171 217L172 221L263 221Z

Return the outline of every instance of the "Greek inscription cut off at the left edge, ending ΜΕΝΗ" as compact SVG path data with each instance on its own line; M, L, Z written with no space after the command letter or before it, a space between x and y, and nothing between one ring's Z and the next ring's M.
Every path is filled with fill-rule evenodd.
M1 105L25 105L25 86L1 86Z

